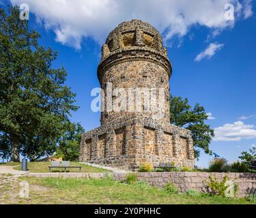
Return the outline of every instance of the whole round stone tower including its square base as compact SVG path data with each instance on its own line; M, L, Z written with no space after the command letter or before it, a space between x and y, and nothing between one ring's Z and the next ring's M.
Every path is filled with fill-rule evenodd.
M193 168L190 131L169 123L171 73L162 37L147 22L122 22L111 31L98 65L101 126L83 134L80 161L131 170L162 162Z

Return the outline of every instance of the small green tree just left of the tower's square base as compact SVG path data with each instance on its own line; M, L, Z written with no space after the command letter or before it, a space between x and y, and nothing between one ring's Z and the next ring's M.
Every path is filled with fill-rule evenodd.
M85 129L80 123L70 123L70 131L66 131L59 142L56 155L67 161L77 161L80 153L81 134L84 132Z

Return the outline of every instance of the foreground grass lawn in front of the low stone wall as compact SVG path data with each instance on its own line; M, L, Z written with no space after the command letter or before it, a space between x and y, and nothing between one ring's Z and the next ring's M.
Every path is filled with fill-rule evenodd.
M18 196L20 181L29 183L29 198ZM110 178L23 177L17 179L12 191L3 188L1 192L0 204L255 204L245 199L167 193L146 183L127 185Z

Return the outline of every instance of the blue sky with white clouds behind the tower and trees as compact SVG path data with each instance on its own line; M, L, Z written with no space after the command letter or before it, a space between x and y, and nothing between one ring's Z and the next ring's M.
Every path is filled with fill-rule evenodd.
M76 93L76 104L80 106L72 114L72 121L81 122L86 131L100 125L100 114L91 111L90 92L99 87L96 70L106 35L124 20L139 18L152 23L163 34L168 47L173 66L171 93L188 97L190 104L198 102L212 113L214 119L207 123L215 128L217 136L210 148L235 161L242 151L256 144L255 2L203 0L190 5L190 1L181 4L182 1L165 0L152 12L156 1L147 1L142 7L143 1L12 3L29 4L29 23L42 34L40 44L59 52L54 67L66 68L66 83ZM9 1L0 2L5 7ZM223 19L225 3L235 6L232 22ZM119 12L122 6L126 10ZM210 159L201 153L197 165L208 166Z

